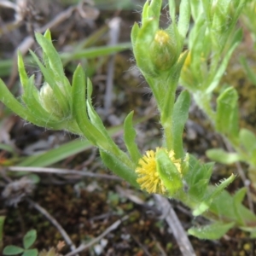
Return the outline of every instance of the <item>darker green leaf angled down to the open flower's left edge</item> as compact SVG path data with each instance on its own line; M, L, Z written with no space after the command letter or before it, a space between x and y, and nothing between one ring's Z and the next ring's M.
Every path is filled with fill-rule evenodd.
M109 170L111 170L113 173L118 175L119 177L122 177L130 183L132 186L139 188L139 185L137 183L137 174L135 172L135 169L131 169L130 166L127 166L123 161L116 158L113 154L110 152L105 152L103 150L100 150L102 162L105 166L108 167Z

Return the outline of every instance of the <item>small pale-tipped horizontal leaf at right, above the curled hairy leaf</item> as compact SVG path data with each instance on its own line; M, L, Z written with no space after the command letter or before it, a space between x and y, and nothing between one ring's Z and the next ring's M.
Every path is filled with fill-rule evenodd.
M225 165L230 165L241 160L239 154L228 153L222 148L208 149L207 157L211 160L217 161L218 163Z

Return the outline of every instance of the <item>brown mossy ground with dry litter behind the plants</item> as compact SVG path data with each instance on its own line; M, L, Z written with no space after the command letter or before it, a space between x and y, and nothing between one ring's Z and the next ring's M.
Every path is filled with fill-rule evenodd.
M26 3L26 1L20 1L20 3ZM88 4L84 5L83 13L73 10L67 15L66 11L70 2L65 4L54 0L52 2L42 1L39 4L37 1L34 9L32 5L27 5L31 9L26 9L25 14L19 14L19 24L13 22L15 20L14 10L0 6L0 56L2 59L0 74L10 90L19 95L20 88L15 62L12 62L15 49L24 47L26 51L27 45L21 45L24 38L32 35L34 29L54 20L57 15L64 13L67 15L51 28L55 47L60 52L73 51L84 38L100 32L113 17L120 18L120 33L115 31L109 36L110 32L107 28L106 32L102 33L102 37L96 38L91 46L109 44L111 37L116 38L116 43L129 42L131 26L135 20L139 20L139 14L132 11L133 7L129 7L129 4L127 9L119 9L119 6L114 3L112 5L103 3L91 7L88 1ZM87 15L87 18L83 18L83 15L84 17ZM37 44L28 46L34 51L38 49ZM140 77L137 69L133 67L135 63L131 59L130 50L118 53L115 55L113 69L111 69L109 68L111 63L109 56L100 56L87 61L75 60L72 57L67 61L65 69L67 76L71 79L74 67L79 62L82 63L94 84L96 109L108 127L120 125L125 115L132 109L135 110L137 119L146 117L146 120L137 125L137 142L144 152L160 144L160 125L154 102L150 99L148 86ZM256 90L253 90L253 85L244 78L244 73L240 69L238 72L236 65L232 66L232 63L236 63L236 59L230 64L231 79L227 73L224 80L227 83L234 83L236 79L234 73L239 76L235 82L236 87L241 88L242 94L242 125L255 131L255 105L253 105L255 100L252 104L247 102ZM31 73L38 71L37 67L30 65L29 62L26 67ZM113 84L113 90L111 90L111 97L106 97L106 88L109 86L107 81L112 75L113 79L110 78L110 84ZM251 93L247 94L247 91ZM6 172L5 166L15 166L29 155L46 152L72 140L80 140L64 131L46 131L44 127L39 128L27 124L3 106L0 108L0 125L1 143L14 148L13 153L4 149L0 151L2 165L0 167L0 189L2 191L8 183L20 179L17 172ZM121 134L120 128L114 133L120 148L124 147ZM189 121L184 132L184 143L189 153L205 161L207 161L205 156L207 148L223 145L222 139L212 131L210 121L204 118L194 104L191 106ZM115 229L99 237L93 245L79 255L181 255L178 243L172 236L172 230L166 224L165 216L161 214L154 197L132 189L121 180L114 180L113 175L102 166L95 148L89 147L79 154L71 154L51 166L79 172L88 171L94 173L96 177L82 177L73 173L38 172L40 181L35 188L31 189L32 193L17 202L16 206L9 206L20 196L19 193L26 190L22 186L26 187L27 183L21 179L18 183L21 192L18 195L9 195L6 199L3 197L0 199L0 213L7 216L3 229L4 246L21 245L26 231L35 229L38 231L38 239L34 247L39 250L56 247L59 241L65 239L61 236L60 229L56 229L55 225L46 218L47 216L59 222L61 229L66 230L76 247L79 247L81 242L93 241L106 230L108 231L112 224L125 217L122 223L116 223ZM215 169L212 183L217 183L219 179L229 176L231 172L236 172L236 166L227 168L216 165ZM108 177L102 177L101 174L107 174ZM230 186L230 191L234 192L241 186L242 183L238 177ZM189 209L178 202L170 201L170 203L185 230L194 224L207 223L206 219L193 218ZM44 210L49 215L45 214ZM255 241L250 240L239 230L231 230L219 241L200 241L191 236L189 240L196 255L254 255ZM66 245L61 253L68 252L70 252L70 247Z

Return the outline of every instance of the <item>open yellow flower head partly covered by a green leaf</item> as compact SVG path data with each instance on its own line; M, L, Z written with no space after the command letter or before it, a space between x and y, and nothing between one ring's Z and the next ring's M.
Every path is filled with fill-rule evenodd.
M166 188L163 181L160 179L159 173L156 171L155 153L160 148L156 148L155 151L148 150L146 154L139 160L137 169L135 172L138 174L137 183L140 184L142 189L145 189L148 193L165 194ZM177 167L177 171L181 173L181 160L177 160L174 157L173 150L167 151L172 163Z

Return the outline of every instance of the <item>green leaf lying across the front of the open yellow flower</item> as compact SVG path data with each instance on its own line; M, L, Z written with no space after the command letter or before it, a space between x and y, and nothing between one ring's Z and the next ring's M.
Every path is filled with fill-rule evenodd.
M165 149L156 152L155 160L156 170L169 192L168 196L172 197L180 189L183 189L181 174L177 171L177 167L172 163Z

